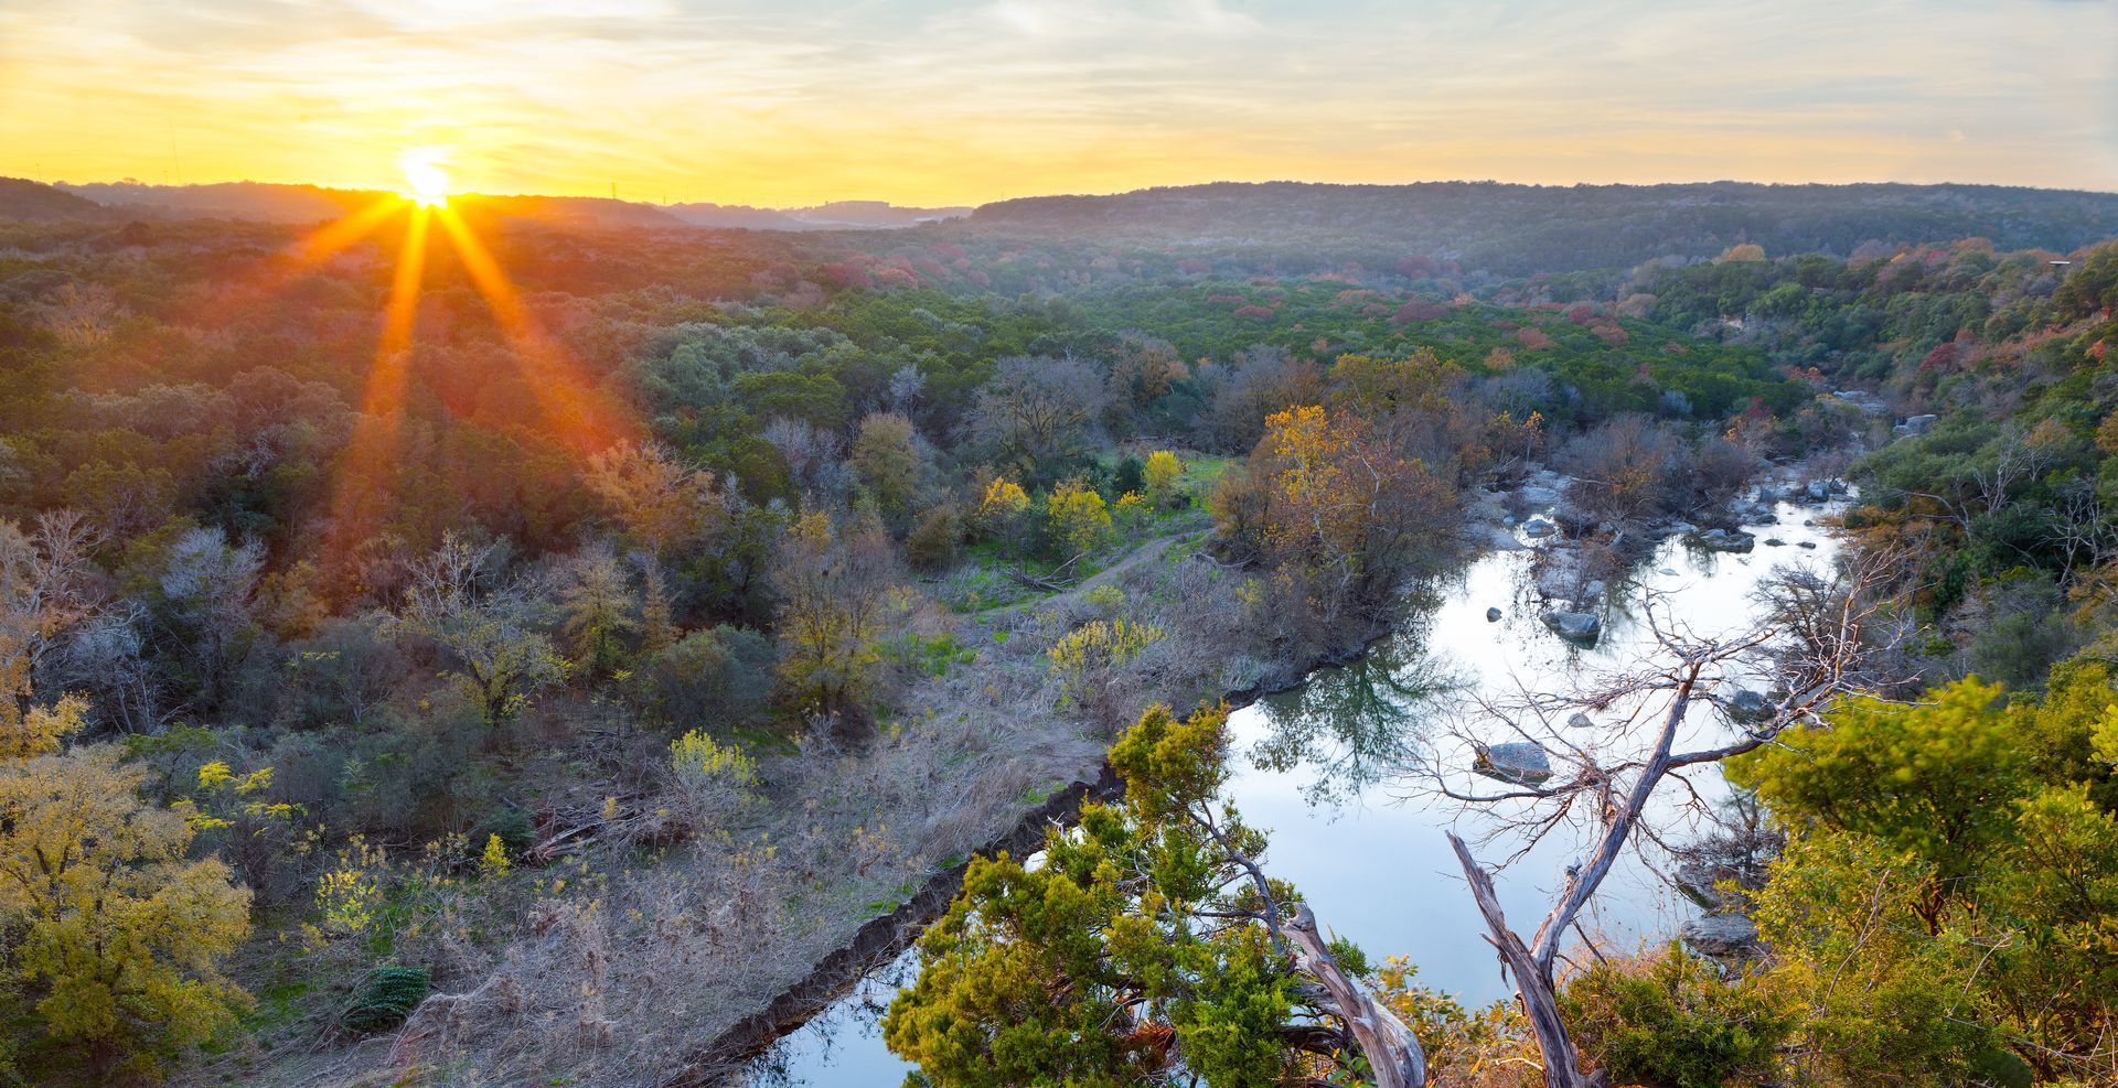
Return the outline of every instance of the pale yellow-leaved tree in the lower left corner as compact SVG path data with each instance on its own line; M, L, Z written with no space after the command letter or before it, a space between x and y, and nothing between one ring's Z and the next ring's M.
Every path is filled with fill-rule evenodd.
M68 696L0 739L0 925L44 1035L108 1077L248 1008L218 965L250 931L250 891L220 859L186 857L191 813L148 804L146 768L119 747L61 751L83 713Z

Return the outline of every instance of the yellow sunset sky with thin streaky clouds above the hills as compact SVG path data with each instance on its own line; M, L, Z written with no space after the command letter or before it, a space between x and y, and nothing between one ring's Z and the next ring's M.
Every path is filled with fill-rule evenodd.
M0 174L809 205L2118 191L2118 0L0 0Z

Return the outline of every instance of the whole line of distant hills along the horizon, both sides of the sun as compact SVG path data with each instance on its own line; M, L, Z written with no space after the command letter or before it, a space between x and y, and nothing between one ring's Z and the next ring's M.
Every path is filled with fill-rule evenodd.
M83 201L95 201L93 205ZM95 216L322 222L385 193L305 184L6 182L0 216ZM1175 250L1252 250L1271 260L1396 267L1455 262L1491 275L1629 269L1707 258L1754 241L1769 256L1847 256L1885 246L1987 237L1999 250L2071 252L2118 237L2118 193L1974 184L1654 184L1527 186L1500 182L1309 184L1216 182L1110 197L1025 197L966 207L837 201L815 207L650 205L604 197L455 197L496 220L563 229L877 231L923 226L943 237L1053 237Z

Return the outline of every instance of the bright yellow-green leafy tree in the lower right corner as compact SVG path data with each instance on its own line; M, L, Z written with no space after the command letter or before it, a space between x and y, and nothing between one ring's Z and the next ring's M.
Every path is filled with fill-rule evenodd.
M1834 1077L2118 1073L2118 815L2097 667L2008 707L1974 679L1855 699L1733 768L1798 834L1756 893L1798 1052Z

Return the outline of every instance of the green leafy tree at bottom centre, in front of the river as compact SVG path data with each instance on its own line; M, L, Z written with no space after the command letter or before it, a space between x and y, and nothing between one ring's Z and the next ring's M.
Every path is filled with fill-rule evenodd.
M1110 751L1123 804L1048 832L1038 868L972 862L890 1005L890 1048L936 1088L1154 1084L1180 1058L1216 1088L1421 1084L1358 955L1317 938L1258 868L1264 836L1216 804L1224 749L1226 711L1152 707Z

